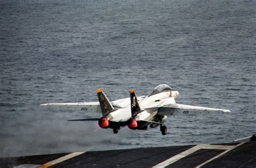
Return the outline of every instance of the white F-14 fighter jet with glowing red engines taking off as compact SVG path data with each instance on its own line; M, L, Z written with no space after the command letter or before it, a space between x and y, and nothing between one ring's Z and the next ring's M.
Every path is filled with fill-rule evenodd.
M69 121L98 121L99 127L111 128L117 134L121 127L129 127L134 130L147 130L160 125L162 135L165 135L167 128L163 123L167 115L176 114L197 114L197 113L225 113L226 109L216 109L198 106L178 104L179 92L172 90L166 84L161 84L147 96L137 97L134 89L130 90L130 98L109 101L101 88L96 90L99 102L80 103L48 103L42 106L66 107L83 111L102 113L99 118L86 118Z

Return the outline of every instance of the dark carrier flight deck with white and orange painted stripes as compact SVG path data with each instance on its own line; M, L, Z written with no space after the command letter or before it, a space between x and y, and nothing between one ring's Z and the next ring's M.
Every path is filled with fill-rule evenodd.
M256 167L256 142L0 158L0 167Z

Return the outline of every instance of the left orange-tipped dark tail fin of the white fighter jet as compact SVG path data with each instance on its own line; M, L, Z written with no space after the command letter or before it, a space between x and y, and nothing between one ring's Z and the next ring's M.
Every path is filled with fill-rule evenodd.
M114 109L112 104L110 103L109 99L107 99L102 88L97 89L96 92L99 98L100 108L102 109L102 115L104 116L109 114Z

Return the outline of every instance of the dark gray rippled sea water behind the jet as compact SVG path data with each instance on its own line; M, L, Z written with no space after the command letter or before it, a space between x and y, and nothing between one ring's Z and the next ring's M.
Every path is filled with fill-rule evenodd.
M255 1L1 1L0 157L222 143L255 134ZM117 135L99 114L40 107L146 95L160 83L178 103L232 111L176 116Z

